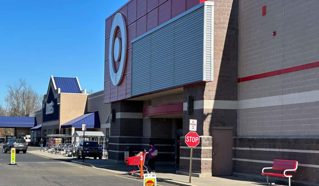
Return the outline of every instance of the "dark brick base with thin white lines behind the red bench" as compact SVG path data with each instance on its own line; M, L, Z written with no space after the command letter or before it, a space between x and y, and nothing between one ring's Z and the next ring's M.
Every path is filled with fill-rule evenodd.
M299 164L297 171L289 172L293 175L292 179L303 181L298 185L306 185L307 182L318 183L319 179L316 176L319 164L318 140L315 136L236 137L234 138L236 149L233 152L234 172L260 175L262 168L271 167L271 161L274 159L297 160Z

